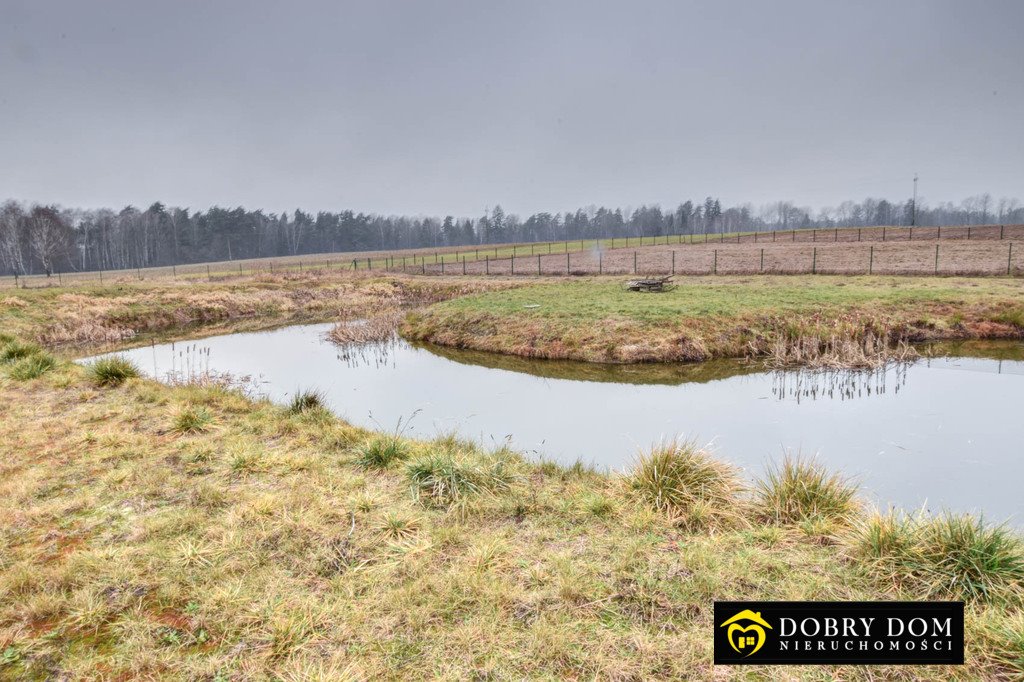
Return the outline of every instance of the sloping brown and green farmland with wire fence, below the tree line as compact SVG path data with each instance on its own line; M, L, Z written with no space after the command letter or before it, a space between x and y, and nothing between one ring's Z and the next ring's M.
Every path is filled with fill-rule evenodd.
M214 281L337 270L410 274L1021 274L1024 225L840 227L309 254L0 278L0 287ZM673 248L675 247L675 248Z

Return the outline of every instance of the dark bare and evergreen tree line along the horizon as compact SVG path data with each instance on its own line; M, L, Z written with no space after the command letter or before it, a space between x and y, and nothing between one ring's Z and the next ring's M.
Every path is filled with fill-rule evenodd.
M0 207L0 273L114 270L216 260L424 247L658 237L868 225L1024 223L1016 199L989 195L933 206L912 200L847 201L812 211L792 202L723 208L718 199L675 210L588 207L521 219L501 206L477 218L411 217L296 209L267 213L213 207L193 212L157 202L141 210L68 209L8 201Z

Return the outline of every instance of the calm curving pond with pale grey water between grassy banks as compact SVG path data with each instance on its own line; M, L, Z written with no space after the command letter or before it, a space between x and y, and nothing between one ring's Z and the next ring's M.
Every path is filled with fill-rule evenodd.
M881 506L983 513L1020 525L1024 345L971 343L880 372L769 372L743 361L595 366L420 347L341 348L332 325L227 334L124 352L150 376L248 377L276 401L317 389L353 424L458 432L527 456L622 470L683 437L752 475L814 456Z

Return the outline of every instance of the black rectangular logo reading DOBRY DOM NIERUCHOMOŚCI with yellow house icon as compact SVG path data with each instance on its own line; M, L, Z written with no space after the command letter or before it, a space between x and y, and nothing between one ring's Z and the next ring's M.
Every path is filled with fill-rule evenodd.
M746 612L759 614L761 623L767 627L752 627L758 621L742 617ZM835 633L826 619L835 621ZM854 619L853 627L844 619ZM861 619L873 620L867 628ZM890 619L896 622L890 625ZM914 619L921 621L911 624ZM947 619L948 628L945 629L942 626ZM865 630L868 631L866 636ZM795 632L791 634L791 631ZM753 651L761 633L764 641ZM866 642L866 649L862 642ZM716 601L715 663L731 666L963 665L964 602Z

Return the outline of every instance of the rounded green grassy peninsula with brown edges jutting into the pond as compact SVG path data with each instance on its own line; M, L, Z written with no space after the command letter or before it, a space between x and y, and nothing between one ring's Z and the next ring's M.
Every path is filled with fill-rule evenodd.
M1024 281L839 276L680 278L662 294L574 280L459 297L412 314L408 336L527 357L701 360L810 340L1020 337Z

